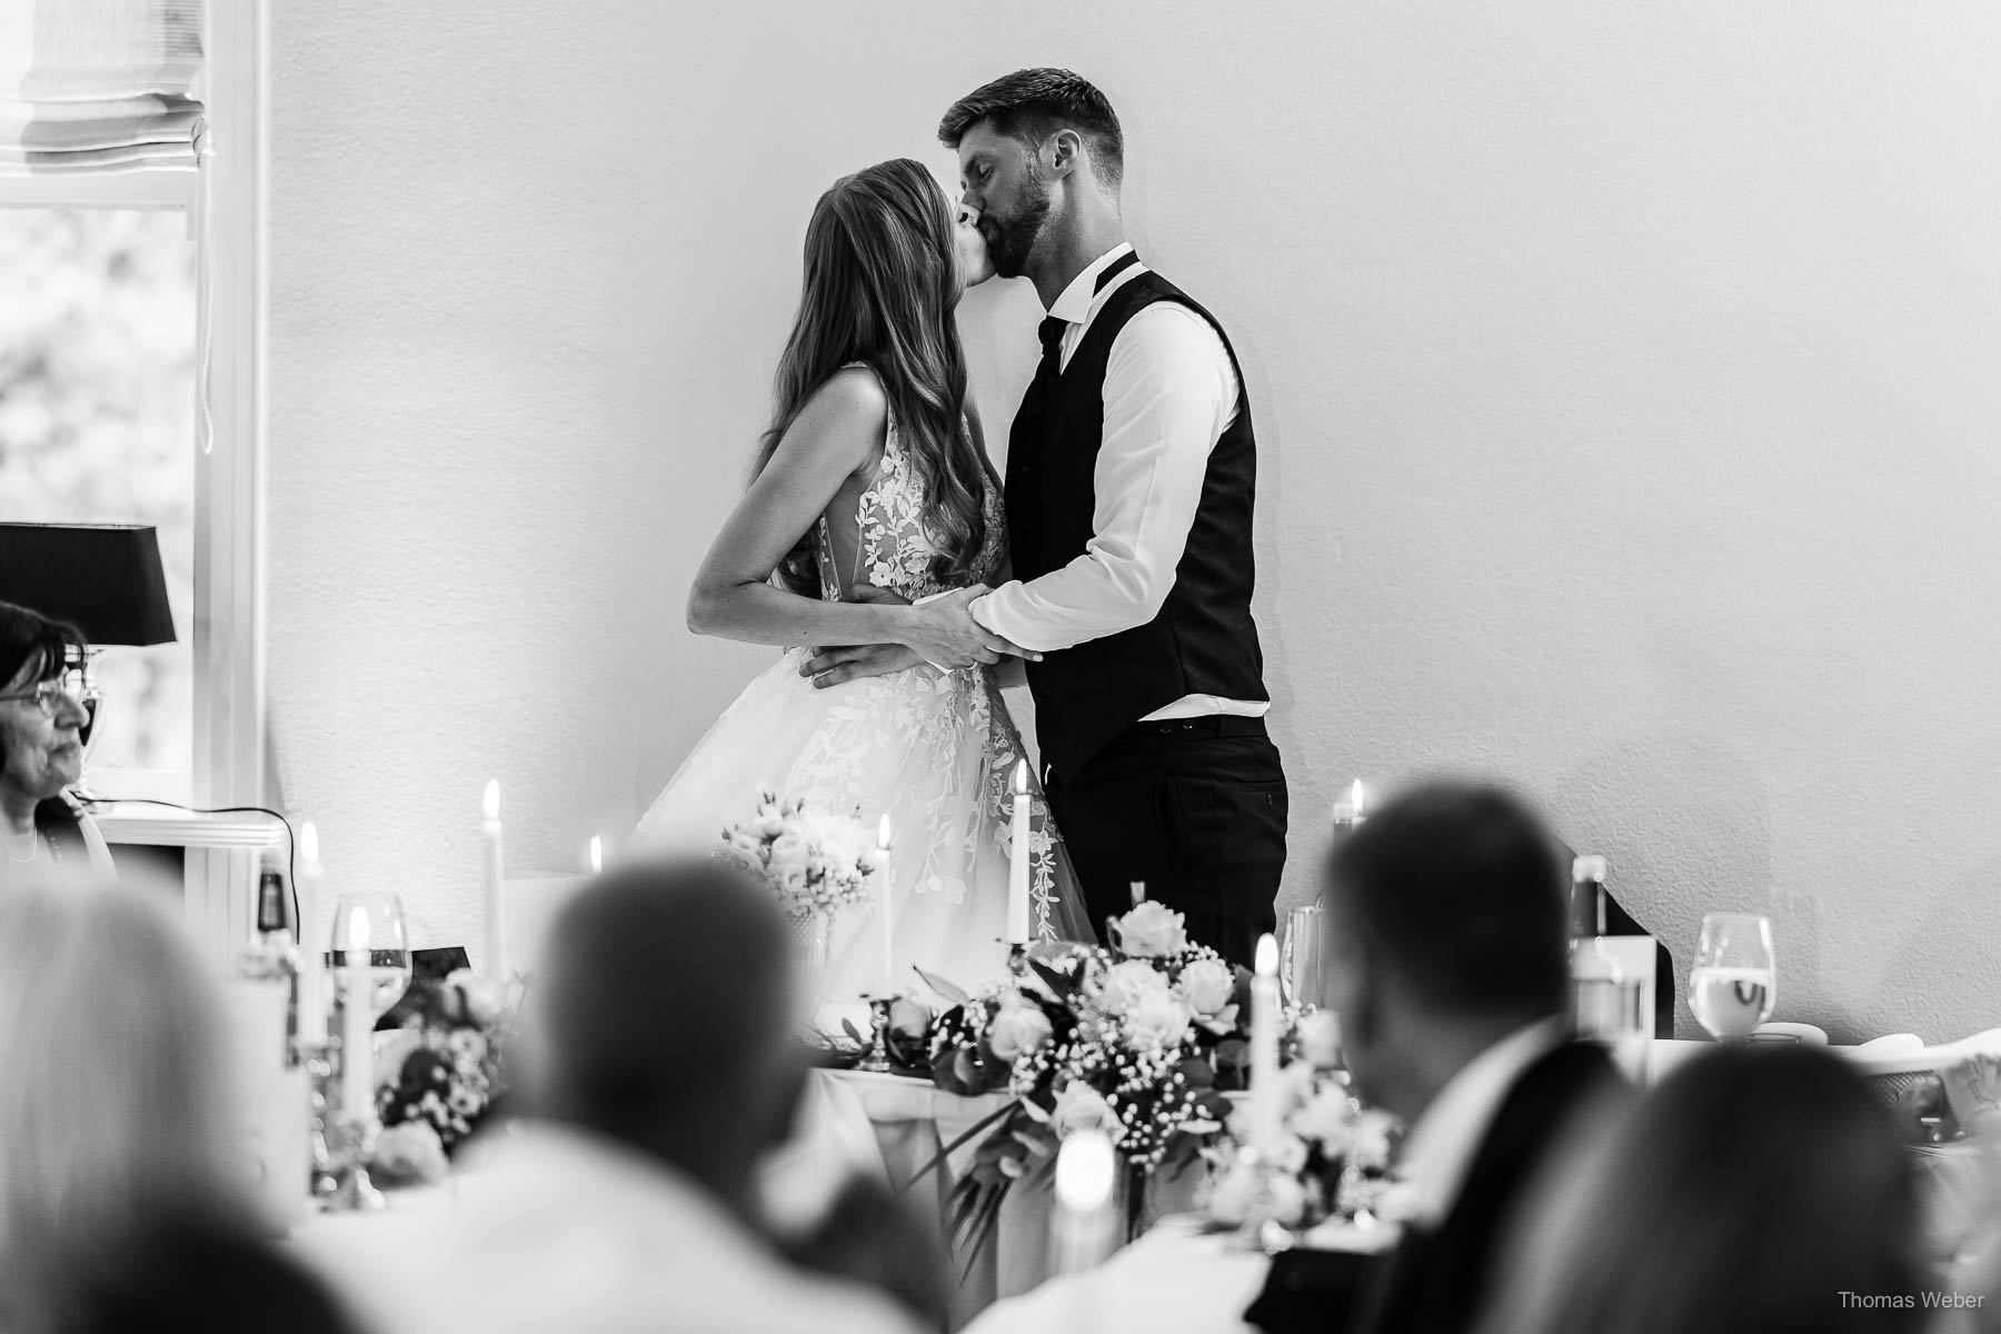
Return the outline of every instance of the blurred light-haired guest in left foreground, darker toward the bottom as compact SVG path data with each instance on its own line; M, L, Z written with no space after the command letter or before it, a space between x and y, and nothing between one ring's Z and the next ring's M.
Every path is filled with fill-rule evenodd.
M230 1088L164 906L0 892L0 1330L348 1328L260 1236Z

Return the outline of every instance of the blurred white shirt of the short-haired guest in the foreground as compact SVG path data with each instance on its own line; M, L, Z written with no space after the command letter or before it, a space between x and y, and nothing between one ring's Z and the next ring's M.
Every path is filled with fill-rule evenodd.
M914 1334L888 1300L802 1274L700 1186L608 1140L534 1124L490 1142L456 1198L376 1264L390 1334ZM398 1216L376 1230L400 1238ZM416 1220L412 1220L416 1222Z

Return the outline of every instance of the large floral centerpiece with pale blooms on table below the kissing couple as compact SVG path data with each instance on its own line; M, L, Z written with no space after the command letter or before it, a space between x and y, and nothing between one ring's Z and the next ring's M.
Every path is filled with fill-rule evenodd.
M1039 946L1027 970L948 1002L930 1030L932 1082L962 1096L1011 1092L944 1154L988 1132L952 1192L952 1236L974 1252L1009 1188L1047 1172L1071 1130L1099 1126L1129 1168L1129 1228L1149 1176L1199 1164L1249 1076L1251 974L1191 944L1179 912L1139 904L1117 948ZM942 1156L940 1154L940 1160Z

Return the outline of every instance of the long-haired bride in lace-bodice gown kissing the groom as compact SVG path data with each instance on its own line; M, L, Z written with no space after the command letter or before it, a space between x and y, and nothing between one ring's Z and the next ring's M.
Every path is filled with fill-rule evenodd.
M888 814L896 966L966 988L1007 964L1023 744L994 664L1029 656L944 614L1007 580L1000 482L952 318L958 294L990 274L978 230L954 224L918 162L870 166L820 196L756 472L688 594L696 634L786 654L724 710L632 836L642 852L716 848L752 816L760 784L860 808L870 826ZM830 644L896 646L880 652L904 666L808 676ZM1031 788L1031 932L1089 940L1069 858ZM870 990L880 946L860 916L834 928L830 998Z

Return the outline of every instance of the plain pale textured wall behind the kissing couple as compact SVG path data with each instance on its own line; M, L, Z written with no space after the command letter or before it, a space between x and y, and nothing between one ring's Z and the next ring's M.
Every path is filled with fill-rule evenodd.
M1787 1018L2001 1020L2001 12L442 10L272 50L278 768L424 942L484 776L574 860L764 660L680 602L816 194L1067 64L1249 372L1289 896L1351 776L1507 776L1679 964L1771 912ZM1037 314L966 302L992 426Z

